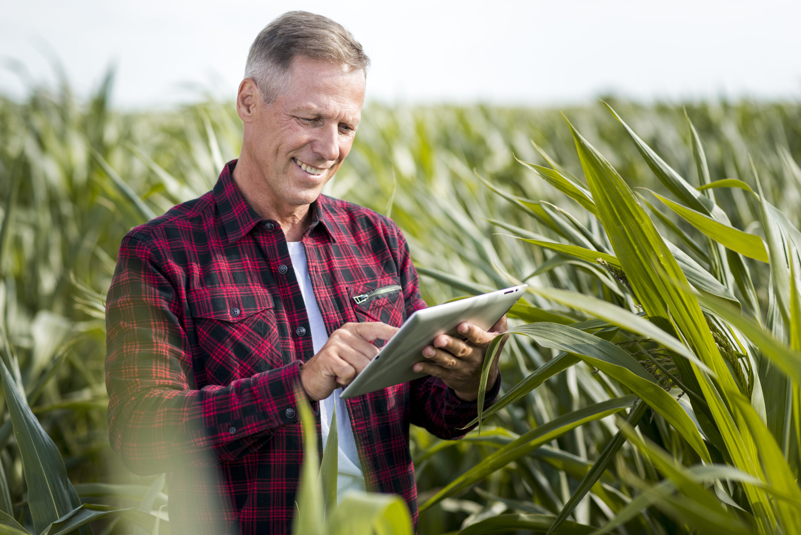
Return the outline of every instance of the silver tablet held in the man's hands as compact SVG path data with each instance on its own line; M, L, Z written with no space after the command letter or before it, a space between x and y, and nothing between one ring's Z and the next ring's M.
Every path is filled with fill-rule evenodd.
M378 354L364 367L340 398L360 396L396 384L425 377L427 373L412 370L416 362L426 361L423 348L441 334L462 336L456 327L469 321L485 331L496 324L525 293L526 284L489 292L481 296L439 304L414 312L400 326Z

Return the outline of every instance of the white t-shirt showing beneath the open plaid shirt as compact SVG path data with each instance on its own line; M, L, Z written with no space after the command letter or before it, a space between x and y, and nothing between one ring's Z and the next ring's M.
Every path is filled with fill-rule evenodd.
M295 276L300 285L300 293L306 305L309 328L312 330L312 345L315 354L320 352L325 342L328 340L328 332L325 330L323 316L320 315L320 307L312 288L312 280L308 276L308 261L303 242L287 242L289 255L292 257L292 268L295 268ZM336 435L339 445L339 456L337 459L338 474L336 477L336 496L340 501L344 493L348 490L364 491L364 475L361 472L359 454L356 452L356 440L353 438L353 430L350 424L350 413L345 405L345 400L340 400L342 388L337 388L331 396L320 400L320 428L323 432L323 448L328 441L328 432L331 429L331 419L336 405Z

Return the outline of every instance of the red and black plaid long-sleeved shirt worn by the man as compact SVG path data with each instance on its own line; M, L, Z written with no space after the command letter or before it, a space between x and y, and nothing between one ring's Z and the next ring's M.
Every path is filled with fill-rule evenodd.
M312 336L284 232L245 202L235 165L213 191L129 232L108 292L111 446L135 473L167 472L173 533L290 533L296 511L294 387ZM303 243L329 335L346 322L400 326L425 308L390 219L324 195L312 215ZM400 291L353 300L391 285ZM400 494L417 521L409 424L453 439L476 405L429 376L348 410L368 490Z

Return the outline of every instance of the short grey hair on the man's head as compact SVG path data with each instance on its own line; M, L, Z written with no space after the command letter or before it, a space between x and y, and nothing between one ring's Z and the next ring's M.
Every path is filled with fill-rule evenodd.
M259 32L245 64L245 78L256 82L264 102L280 95L296 56L364 70L365 77L370 64L360 43L338 22L308 11L288 11Z

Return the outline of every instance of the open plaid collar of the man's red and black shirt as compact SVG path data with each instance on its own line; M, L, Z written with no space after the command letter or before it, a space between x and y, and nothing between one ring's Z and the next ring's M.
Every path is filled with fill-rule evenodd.
M235 243L239 238L248 234L258 223L273 223L277 225L277 222L272 219L262 219L242 196L242 192L239 191L239 187L234 182L232 175L236 162L237 160L234 159L225 164L214 186L214 199L219 211L219 217L225 228L228 243ZM319 195L311 204L312 224L309 225L304 235L310 235L312 231L320 227L325 229L325 233L328 234L332 241L336 241L329 228L331 222L328 221L328 210L324 209L326 203L325 195Z

